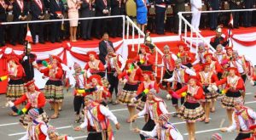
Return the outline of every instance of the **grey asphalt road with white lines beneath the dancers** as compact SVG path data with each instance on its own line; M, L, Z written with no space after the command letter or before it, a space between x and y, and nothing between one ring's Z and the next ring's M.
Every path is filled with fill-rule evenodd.
M247 95L246 95L246 105L255 110L256 101L253 99L255 87L251 87L247 83ZM165 92L160 93L160 97L165 97ZM9 116L9 108L6 108L4 104L6 103L5 95L0 95L0 136L2 140L15 140L19 139L25 135L26 130L18 124L19 116L13 117ZM172 108L172 103L166 100L168 110L170 112L174 111ZM218 128L221 120L225 119L224 126L228 125L228 120L226 117L225 109L223 109L218 101L216 104L216 112L210 115L211 121L209 124L203 122L196 123L196 139L197 140L209 140L213 133L219 132ZM113 114L117 116L119 123L121 124L121 129L116 131L114 128L114 137L117 140L139 140L139 135L137 133L130 131L130 124L126 123L125 120L128 116L128 110L125 105L109 105L109 108L113 111ZM53 111L48 110L49 104L44 108L48 115L52 115ZM63 104L63 110L61 115L56 120L50 120L50 124L57 127L58 132L61 134L68 134L75 139L86 139L86 132L74 132L73 126L79 126L79 124L74 123L74 111L73 111L73 95L70 92L65 94L65 101ZM177 126L177 129L183 134L184 139L188 138L185 122L178 118L171 118L172 123ZM138 127L143 127L144 120L139 118L136 121ZM84 130L85 131L85 130ZM224 140L232 140L236 137L236 132L222 133Z

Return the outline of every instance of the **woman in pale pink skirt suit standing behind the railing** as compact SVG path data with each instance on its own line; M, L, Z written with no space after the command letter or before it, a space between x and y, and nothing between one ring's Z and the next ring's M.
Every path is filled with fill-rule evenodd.
M79 0L67 0L68 7L68 18L69 19L79 19L79 8L80 8ZM69 32L70 32L70 41L77 42L77 27L79 25L79 20L70 20L69 21Z

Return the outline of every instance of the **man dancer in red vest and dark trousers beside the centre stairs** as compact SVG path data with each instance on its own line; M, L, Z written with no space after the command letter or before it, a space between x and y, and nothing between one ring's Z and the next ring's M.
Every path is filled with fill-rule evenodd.
M162 64L156 64L157 67L164 67L165 68L165 74L163 76L163 79L169 79L172 77L173 70L175 68L175 61L177 60L177 56L175 53L172 53L170 51L170 48L168 45L164 47L164 55L162 56ZM170 82L162 81L162 86L166 87L166 91L168 92L170 90ZM167 99L171 98L169 97L169 94L167 94Z

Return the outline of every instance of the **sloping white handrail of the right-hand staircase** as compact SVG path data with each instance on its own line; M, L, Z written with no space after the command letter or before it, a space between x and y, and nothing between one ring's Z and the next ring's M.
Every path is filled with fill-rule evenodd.
M202 40L204 43L206 43L207 46L212 50L212 52L215 52L215 49L212 48L212 45L211 45L209 42L207 42L207 40L206 40L203 36L201 36L201 34L200 34L198 31L196 31L195 28L194 28L192 25L190 25L189 21L186 20L186 19L183 17L182 12L177 13L177 15L179 16L180 19L183 20L183 22L185 23L185 25L189 25L189 27L190 27L190 29L191 29L191 36L192 36L192 32L195 32L196 36L200 37L201 40ZM181 30L182 30L182 28L181 28L181 26L180 26L180 27L179 27L179 36L181 35ZM185 37L187 37L187 36L185 36ZM190 48L192 47L192 43L191 43L191 42L192 42L192 41L190 41Z

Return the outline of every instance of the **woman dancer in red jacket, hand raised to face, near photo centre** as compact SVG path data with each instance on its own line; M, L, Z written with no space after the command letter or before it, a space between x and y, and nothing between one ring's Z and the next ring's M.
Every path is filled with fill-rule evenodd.
M130 123L131 117L135 115L136 105L131 102L132 98L137 96L137 88L139 81L143 78L143 70L141 70L132 59L126 61L126 69L119 75L119 81L125 84L121 94L119 95L119 102L126 104L129 111L129 118L126 122Z

